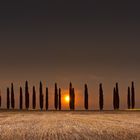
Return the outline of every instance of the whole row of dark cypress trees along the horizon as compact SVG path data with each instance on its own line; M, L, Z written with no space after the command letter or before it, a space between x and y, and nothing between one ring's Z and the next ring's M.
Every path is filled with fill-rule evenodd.
M25 104L25 108L29 110L29 87L28 87L28 81L25 82L25 94L23 94L22 87L20 87L20 94L19 94L19 109L23 109L23 104ZM88 96L88 86L85 84L84 86L84 107L85 110L89 109L89 96ZM23 97L25 97L25 103L23 103ZM45 97L45 98L44 98ZM70 110L75 110L75 89L72 86L72 83L70 82L69 85L69 108ZM32 109L36 109L36 89L35 86L33 86L32 89ZM49 109L49 92L48 87L46 87L45 94L43 93L43 85L42 82L40 82L39 85L39 106L40 110L43 110L44 108L44 101L45 101L45 109ZM9 87L7 88L7 109L15 109L15 94L14 94L14 86L13 83L11 83L11 89ZM0 107L2 104L2 98L0 94ZM127 107L128 109L134 109L135 108L135 87L134 82L131 83L131 87L128 87L127 91ZM61 88L57 87L57 83L55 83L54 88L54 108L55 110L61 110ZM120 96L119 96L119 86L118 83L116 83L115 87L113 88L113 108L114 110L119 110L120 108ZM99 84L99 110L104 109L104 91L103 86L100 83Z

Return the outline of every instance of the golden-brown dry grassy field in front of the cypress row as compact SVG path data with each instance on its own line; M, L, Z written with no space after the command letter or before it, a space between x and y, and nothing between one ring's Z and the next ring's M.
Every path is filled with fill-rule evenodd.
M0 111L0 140L140 140L139 111Z

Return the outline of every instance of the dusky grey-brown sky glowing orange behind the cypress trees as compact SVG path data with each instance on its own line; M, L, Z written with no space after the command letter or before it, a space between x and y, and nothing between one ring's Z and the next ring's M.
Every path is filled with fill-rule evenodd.
M53 108L54 83L68 94L76 90L77 109L83 108L88 84L90 109L98 108L103 83L105 109L112 108L112 92L119 82L121 108L127 87L135 81L140 108L140 8L136 1L46 0L0 2L0 87L14 83L17 107L19 86L40 80L49 87ZM31 96L31 95L30 95ZM3 107L4 107L3 102ZM65 102L64 108L67 109Z

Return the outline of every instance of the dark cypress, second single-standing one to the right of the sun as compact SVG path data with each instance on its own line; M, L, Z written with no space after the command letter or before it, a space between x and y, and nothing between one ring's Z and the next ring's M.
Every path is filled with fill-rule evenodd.
M99 107L100 107L100 110L103 110L103 106L104 106L103 88L102 88L102 84L100 84L99 85Z

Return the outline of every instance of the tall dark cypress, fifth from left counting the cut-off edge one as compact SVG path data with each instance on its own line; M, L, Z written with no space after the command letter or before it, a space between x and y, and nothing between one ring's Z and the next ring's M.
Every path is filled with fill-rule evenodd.
M28 81L25 82L25 107L29 109L29 88Z

